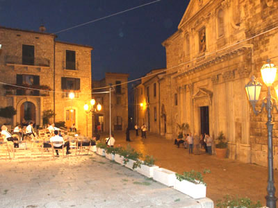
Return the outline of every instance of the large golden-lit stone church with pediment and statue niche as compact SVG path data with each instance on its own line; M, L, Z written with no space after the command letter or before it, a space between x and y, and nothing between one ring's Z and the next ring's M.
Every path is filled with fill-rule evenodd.
M268 58L278 64L277 7L277 0L190 1L177 32L163 42L167 73L161 109L165 107L167 138L177 135L177 123L187 122L191 132L214 139L222 131L229 158L267 166L267 116L255 116L245 84L252 75L263 83L260 69ZM265 85L262 90L261 98Z

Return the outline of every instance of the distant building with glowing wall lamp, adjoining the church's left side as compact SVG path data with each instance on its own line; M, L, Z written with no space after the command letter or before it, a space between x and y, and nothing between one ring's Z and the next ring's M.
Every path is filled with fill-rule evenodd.
M145 123L149 132L157 134L161 134L161 130L164 131L164 117L160 116L161 80L165 75L163 70L165 69L153 69L133 88L135 122L139 127Z

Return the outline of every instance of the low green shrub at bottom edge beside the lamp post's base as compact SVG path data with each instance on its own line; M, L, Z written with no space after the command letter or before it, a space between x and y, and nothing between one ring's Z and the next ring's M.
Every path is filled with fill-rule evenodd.
M250 198L232 198L231 196L227 195L224 196L223 200L216 201L216 207L218 208L258 208L262 207L261 202L252 202Z

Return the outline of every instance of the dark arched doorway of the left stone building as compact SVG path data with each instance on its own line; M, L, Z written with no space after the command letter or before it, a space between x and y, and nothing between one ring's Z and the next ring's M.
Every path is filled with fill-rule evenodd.
M27 124L29 121L35 122L35 105L27 101L20 106L20 123Z

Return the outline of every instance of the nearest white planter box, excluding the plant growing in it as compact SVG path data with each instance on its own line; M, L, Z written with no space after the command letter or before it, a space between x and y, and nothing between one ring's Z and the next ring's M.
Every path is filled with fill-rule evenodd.
M185 193L192 198L205 198L206 197L206 186L204 184L194 184L188 180L179 181L175 180L174 189Z

